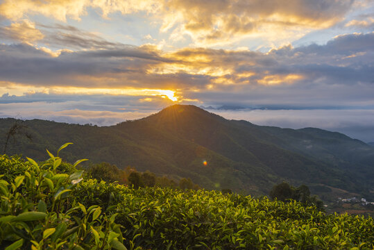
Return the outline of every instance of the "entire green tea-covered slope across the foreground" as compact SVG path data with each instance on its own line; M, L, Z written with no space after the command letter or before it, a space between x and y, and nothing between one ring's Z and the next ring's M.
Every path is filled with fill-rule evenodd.
M372 249L373 218L301 203L84 178L0 156L1 249Z

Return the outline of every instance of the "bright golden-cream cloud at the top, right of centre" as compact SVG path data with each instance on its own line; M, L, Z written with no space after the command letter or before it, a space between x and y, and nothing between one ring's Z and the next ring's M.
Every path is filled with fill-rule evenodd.
M341 21L353 1L168 1L165 5L181 33L196 44L224 44L250 35L275 42L303 35L313 29L328 28ZM167 14L165 14L167 15ZM163 31L169 30L166 18Z

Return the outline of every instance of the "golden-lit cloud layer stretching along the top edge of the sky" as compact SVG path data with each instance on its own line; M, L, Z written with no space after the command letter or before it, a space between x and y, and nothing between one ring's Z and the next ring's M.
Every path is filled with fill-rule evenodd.
M80 20L88 9L97 10L105 19L143 13L161 24L169 40L189 36L199 47L232 44L244 38L261 36L270 45L297 40L313 30L328 28L342 21L354 0L5 0L0 13L17 21L27 15L44 15L62 22ZM68 39L68 38L65 38Z

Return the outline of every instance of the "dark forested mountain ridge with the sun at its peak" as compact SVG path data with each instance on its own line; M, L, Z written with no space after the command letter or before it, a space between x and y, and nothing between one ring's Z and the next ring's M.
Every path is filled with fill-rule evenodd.
M0 119L0 145L15 119ZM98 127L33 119L33 142L19 138L8 153L43 160L74 142L62 156L89 158L169 178L189 177L208 189L268 194L275 183L305 183L324 199L339 192L373 197L374 148L341 133L290 129L228 120L196 106L174 105L116 126ZM203 164L206 160L207 164Z

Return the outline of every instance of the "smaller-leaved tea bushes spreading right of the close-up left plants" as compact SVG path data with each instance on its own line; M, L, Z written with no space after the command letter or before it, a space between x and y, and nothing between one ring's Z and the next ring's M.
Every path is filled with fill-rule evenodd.
M96 186L93 187L93 186ZM373 218L326 215L297 201L87 181L74 196L107 197L128 249L371 249ZM113 195L117 194L117 197ZM86 204L85 204L86 205ZM90 203L92 206L92 203Z

